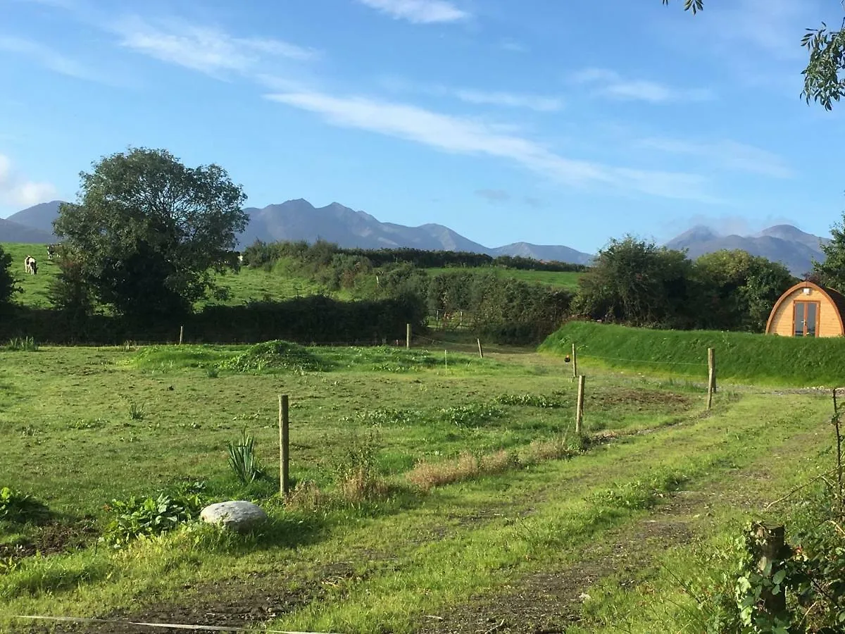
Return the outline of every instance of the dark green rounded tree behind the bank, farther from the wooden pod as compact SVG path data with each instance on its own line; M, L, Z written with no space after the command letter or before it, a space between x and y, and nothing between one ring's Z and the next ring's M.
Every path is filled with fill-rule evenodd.
M614 238L581 276L575 314L629 325L689 327L691 267L683 251L631 236Z

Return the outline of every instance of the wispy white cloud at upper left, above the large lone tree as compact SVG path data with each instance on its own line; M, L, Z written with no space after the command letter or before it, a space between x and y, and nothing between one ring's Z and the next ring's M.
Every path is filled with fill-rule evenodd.
M112 30L120 37L121 46L215 77L260 73L274 60L307 61L318 55L286 41L234 37L215 27L178 20L153 23L134 16L118 20Z

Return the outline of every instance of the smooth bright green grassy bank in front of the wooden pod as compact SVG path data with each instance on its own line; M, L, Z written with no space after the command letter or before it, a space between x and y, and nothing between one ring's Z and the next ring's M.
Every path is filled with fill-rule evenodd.
M707 348L716 349L724 380L778 385L845 385L845 339L793 338L721 331L657 331L570 321L542 352L570 353L613 368L681 374L706 380Z

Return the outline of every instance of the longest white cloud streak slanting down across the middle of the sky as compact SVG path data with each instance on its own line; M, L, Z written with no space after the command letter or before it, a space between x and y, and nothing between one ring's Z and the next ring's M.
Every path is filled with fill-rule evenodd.
M601 184L669 198L714 201L706 194L706 181L699 175L650 172L569 159L532 139L502 132L470 118L364 96L289 92L270 94L267 98L319 114L336 126L407 139L455 154L505 159L561 183Z

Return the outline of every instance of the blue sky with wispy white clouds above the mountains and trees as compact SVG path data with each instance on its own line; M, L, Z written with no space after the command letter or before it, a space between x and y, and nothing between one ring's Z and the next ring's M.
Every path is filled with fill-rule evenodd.
M220 164L249 206L491 247L826 235L845 127L799 99L823 19L839 3L0 0L0 217L133 145Z

